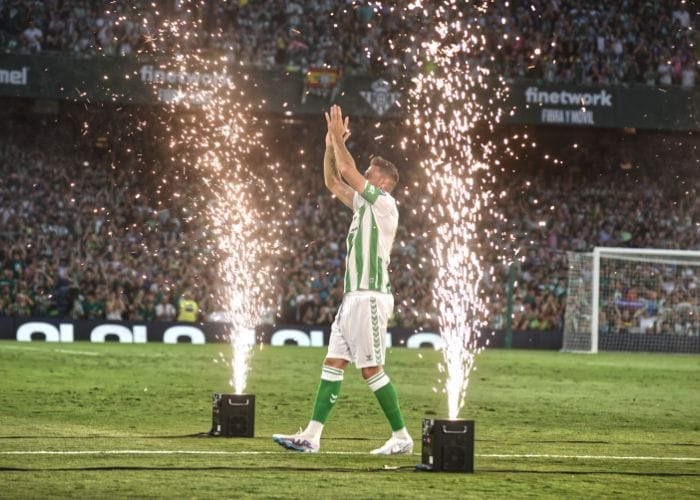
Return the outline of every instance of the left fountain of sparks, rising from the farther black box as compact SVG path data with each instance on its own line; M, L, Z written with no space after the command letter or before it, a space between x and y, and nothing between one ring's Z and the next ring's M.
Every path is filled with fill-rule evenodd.
M203 36L197 7L183 2L176 20L163 20L153 40L165 45L169 57L142 66L141 77L152 81L154 92L166 102L171 160L192 183L203 186L189 200L190 211L207 218L201 261L217 266L218 289L211 299L223 311L232 349L231 386L245 391L254 328L271 307L270 258L286 219L278 165L261 164L267 157L256 103L236 82L225 56L202 55L191 40ZM218 35L215 36L220 36ZM195 190L196 191L196 190ZM274 217L269 216L274 212Z

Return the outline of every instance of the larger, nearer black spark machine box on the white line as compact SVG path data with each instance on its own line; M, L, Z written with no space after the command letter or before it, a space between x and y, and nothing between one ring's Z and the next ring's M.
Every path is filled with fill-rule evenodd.
M474 421L423 419L420 469L474 472Z

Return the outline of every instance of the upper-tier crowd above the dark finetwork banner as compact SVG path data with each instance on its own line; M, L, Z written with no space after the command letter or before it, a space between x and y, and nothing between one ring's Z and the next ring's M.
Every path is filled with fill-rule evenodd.
M591 85L694 87L697 29L685 0L461 2L480 49L465 54L506 78ZM434 6L409 11L361 0L1 0L0 49L76 56L216 50L231 60L299 71L415 69ZM189 22L191 36L159 29ZM189 21L188 21L189 20ZM411 49L408 51L407 49ZM420 64L428 63L421 61Z

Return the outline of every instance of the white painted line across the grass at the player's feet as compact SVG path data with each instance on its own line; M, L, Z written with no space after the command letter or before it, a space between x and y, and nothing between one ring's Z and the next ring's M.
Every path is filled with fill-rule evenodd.
M361 451L322 451L322 455L367 455ZM289 451L217 451L217 450L13 450L0 451L0 455L282 455ZM550 454L476 454L480 458L545 458L573 460L638 460L638 461L669 461L669 462L700 462L700 457L649 457L649 456L618 456L618 455L550 455Z

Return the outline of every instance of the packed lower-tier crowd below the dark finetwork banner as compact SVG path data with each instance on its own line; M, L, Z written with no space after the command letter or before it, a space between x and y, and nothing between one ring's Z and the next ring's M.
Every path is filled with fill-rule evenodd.
M149 178L172 181L170 167L156 159L142 168L145 160L139 158L153 145L127 137L128 125L114 122L115 133L122 129L123 135L110 140L130 141L130 155L120 156L124 148L122 153L95 148L95 137L85 138L80 126L67 124L15 123L0 143L0 315L172 320L186 294L197 303L198 319L221 309L216 266L202 258L209 256L206 221L188 214L186 196L163 199L148 187ZM375 151L371 129L358 124L349 143L360 164ZM278 141L273 156L286 161L285 192L293 209L274 282L276 311L266 321L329 324L342 298L351 214L323 186L317 124L301 121L286 133L290 137ZM389 125L386 133L390 144L395 138ZM34 134L41 134L40 146ZM565 167L546 164L534 151L517 169L501 172L494 186L508 193L495 207L503 218L487 217L485 223L495 234L509 235L501 252L517 262L515 329L562 327L569 251L700 250L700 179L693 175L699 159L688 156L697 156L697 148L677 148L662 134L622 139L614 132L590 134L577 131L578 142L573 136L553 141L576 143ZM286 146L292 137L298 150ZM560 157L566 155L560 151ZM668 175L658 175L659 162ZM404 188L397 193L402 221L390 266L397 295L393 324L434 328L431 224L423 211L412 210L416 194L409 189L420 185L423 174L406 158L397 163ZM299 175L302 164L308 166ZM507 269L491 257L493 271L484 280L490 322L503 328ZM677 286L660 282L636 293L653 292L661 304L685 290L697 302L700 274L679 280Z

